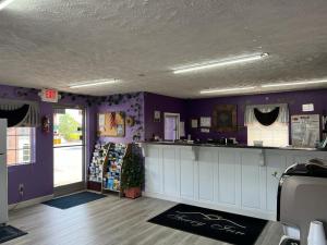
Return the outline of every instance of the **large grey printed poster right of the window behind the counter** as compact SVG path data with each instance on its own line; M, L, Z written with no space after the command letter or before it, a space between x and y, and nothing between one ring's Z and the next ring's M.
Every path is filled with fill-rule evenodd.
M300 114L291 117L291 142L296 147L316 147L320 139L319 114Z

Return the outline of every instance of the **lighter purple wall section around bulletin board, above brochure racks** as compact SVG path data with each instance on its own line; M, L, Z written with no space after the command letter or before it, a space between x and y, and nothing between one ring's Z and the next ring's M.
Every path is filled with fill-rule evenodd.
M140 135L140 140L144 140L144 93L108 96L107 100L98 106L98 113L123 111L126 117L134 118L135 124L125 126L125 137L100 137L99 140L132 143L135 135Z

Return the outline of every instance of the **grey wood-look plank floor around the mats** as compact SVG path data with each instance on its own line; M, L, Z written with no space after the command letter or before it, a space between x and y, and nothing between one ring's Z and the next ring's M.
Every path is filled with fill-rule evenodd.
M173 207L167 200L106 198L61 210L45 205L13 210L10 224L28 232L4 245L226 245L147 222ZM269 222L256 245L276 245L281 225Z

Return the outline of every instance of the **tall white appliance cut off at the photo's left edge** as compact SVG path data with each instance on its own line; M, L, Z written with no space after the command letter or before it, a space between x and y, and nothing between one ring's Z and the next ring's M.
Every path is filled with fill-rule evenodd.
M7 120L0 119L0 224L8 222Z

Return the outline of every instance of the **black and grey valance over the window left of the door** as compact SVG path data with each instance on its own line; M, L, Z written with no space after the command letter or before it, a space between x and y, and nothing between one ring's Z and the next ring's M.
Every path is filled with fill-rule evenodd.
M0 118L8 126L35 127L40 124L39 107L36 102L0 99Z

